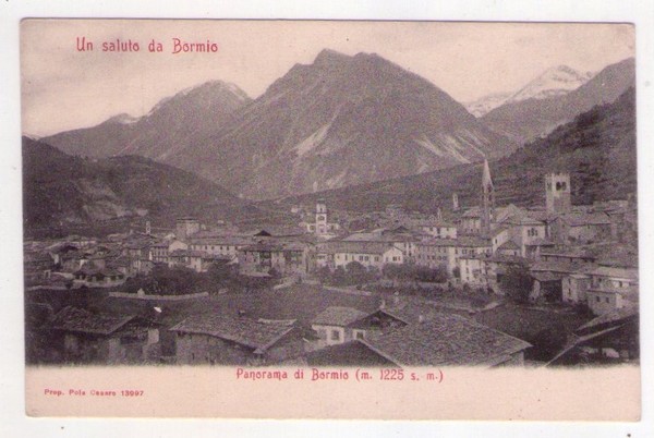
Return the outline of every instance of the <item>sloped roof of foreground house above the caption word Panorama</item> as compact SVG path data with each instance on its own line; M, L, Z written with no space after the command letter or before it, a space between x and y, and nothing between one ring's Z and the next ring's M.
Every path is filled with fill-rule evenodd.
M213 336L261 351L276 344L292 329L288 325L207 314L192 315L170 328L171 331L183 333Z

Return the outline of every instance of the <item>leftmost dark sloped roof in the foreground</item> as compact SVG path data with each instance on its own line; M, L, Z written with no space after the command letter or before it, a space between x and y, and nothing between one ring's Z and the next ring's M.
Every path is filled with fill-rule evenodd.
M132 318L134 317L93 314L83 308L66 306L55 315L48 323L48 327L55 330L107 336L128 324Z

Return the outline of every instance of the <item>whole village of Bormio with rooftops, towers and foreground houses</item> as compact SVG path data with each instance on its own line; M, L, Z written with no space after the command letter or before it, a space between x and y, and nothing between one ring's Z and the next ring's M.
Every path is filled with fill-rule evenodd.
M639 361L634 198L353 214L25 241L27 361L232 366L581 366Z

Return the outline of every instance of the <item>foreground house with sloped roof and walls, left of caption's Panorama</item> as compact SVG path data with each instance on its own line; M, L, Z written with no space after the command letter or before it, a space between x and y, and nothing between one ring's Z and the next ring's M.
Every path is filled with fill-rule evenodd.
M178 364L259 366L304 352L290 321L264 321L226 315L192 315L171 327Z

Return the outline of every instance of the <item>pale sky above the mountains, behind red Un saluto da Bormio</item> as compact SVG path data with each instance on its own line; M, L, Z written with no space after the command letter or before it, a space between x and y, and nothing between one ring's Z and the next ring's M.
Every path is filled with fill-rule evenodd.
M93 51L78 51L77 38ZM173 38L215 42L213 53L172 53ZM104 42L138 42L131 52ZM147 50L152 39L164 51ZM160 99L221 80L253 98L295 63L329 48L377 53L460 102L514 92L555 65L597 72L634 56L627 24L25 20L21 24L23 133L45 136L119 113L140 117Z

